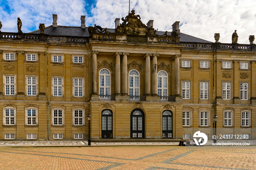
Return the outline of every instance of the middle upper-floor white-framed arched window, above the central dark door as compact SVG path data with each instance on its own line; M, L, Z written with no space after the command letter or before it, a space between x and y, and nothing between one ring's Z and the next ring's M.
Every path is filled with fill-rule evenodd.
M140 95L140 74L137 70L129 72L129 96Z

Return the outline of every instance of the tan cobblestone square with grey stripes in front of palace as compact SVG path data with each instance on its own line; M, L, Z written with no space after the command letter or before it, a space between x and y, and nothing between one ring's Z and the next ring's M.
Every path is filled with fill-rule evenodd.
M0 158L0 169L256 169L255 146L0 147Z

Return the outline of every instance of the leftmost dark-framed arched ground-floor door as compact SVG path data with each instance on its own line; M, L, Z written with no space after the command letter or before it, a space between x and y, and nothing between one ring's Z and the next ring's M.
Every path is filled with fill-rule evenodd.
M103 110L101 113L101 138L112 138L112 112Z

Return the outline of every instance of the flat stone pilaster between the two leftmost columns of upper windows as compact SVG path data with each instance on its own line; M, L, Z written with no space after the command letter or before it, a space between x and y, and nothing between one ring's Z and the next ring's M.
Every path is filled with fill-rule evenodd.
M21 95L24 96L24 90L25 90L25 81L24 80L24 51L16 51L17 53L17 62L18 62L18 76L16 82L18 82L18 90L17 90L17 96Z

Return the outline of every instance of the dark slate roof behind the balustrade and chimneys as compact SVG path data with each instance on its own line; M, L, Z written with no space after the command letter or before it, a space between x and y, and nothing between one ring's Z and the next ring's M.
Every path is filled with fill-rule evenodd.
M107 28L110 33L114 33L115 29L114 28ZM35 30L32 32L29 32L31 34L39 34L40 30ZM46 35L60 35L60 36L80 36L80 37L88 37L89 32L88 32L88 27L85 29L81 29L81 27L73 27L73 26L48 26L45 28ZM157 31L157 35L162 36L165 33L165 31ZM172 35L172 32L168 32L168 35ZM210 41L201 39L201 38L196 38L195 36L187 35L180 33L180 42L197 42L197 43L212 43Z

